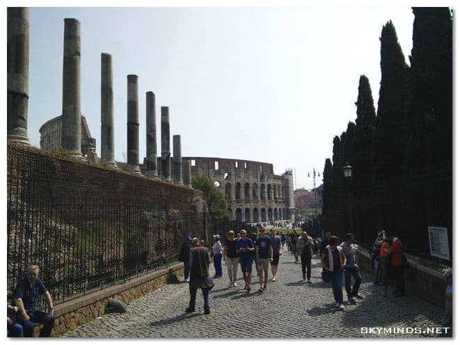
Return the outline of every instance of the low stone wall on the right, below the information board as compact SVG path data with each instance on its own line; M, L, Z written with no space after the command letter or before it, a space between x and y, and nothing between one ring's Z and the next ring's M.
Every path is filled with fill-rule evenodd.
M404 270L406 294L420 296L438 305L438 307L444 307L446 283L443 279L443 273L416 264L409 257L407 260L409 268ZM358 264L361 269L374 273L372 259L367 250L358 250Z

